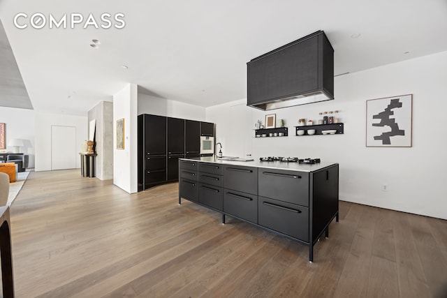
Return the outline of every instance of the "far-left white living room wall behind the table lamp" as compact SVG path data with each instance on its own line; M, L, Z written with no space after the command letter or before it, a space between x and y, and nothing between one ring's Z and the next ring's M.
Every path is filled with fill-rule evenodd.
M28 167L34 167L34 110L17 109L15 107L0 107L0 122L6 124L6 150L11 139L22 139L24 147L20 147L20 153L28 154Z

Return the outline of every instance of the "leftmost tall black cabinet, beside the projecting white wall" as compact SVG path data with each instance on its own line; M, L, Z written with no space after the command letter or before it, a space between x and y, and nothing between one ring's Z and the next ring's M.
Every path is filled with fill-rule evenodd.
M138 190L166 181L166 117L138 116Z

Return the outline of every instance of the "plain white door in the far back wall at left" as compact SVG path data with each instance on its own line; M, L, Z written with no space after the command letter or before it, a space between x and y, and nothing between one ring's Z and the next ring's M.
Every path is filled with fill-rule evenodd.
M75 126L51 126L51 170L76 168Z

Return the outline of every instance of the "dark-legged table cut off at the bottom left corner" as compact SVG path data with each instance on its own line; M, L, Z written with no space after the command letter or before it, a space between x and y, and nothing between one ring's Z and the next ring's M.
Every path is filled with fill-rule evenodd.
M0 207L0 254L1 254L1 282L3 297L14 297L13 255L11 253L11 235L9 207Z

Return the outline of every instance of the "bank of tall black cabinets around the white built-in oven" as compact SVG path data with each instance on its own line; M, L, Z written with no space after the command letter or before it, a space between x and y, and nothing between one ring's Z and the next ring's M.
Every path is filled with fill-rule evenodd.
M200 134L214 124L141 114L138 116L138 191L179 179L179 158L200 156Z

